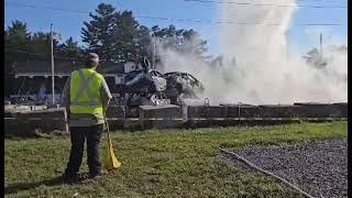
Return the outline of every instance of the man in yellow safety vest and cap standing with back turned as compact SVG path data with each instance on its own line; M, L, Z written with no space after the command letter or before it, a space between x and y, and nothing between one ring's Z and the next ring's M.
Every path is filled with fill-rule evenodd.
M99 160L100 139L103 130L103 111L112 98L102 75L96 72L99 56L89 53L85 68L74 70L66 81L63 101L66 107L70 129L70 155L63 175L65 180L75 180L79 170L85 139L90 178L101 175Z

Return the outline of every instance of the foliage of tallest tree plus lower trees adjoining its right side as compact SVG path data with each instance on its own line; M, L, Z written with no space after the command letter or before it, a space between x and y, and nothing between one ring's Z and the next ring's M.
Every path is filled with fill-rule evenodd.
M117 11L111 4L101 3L90 13L91 21L84 22L82 41L88 51L99 54L102 59L119 63L152 58L154 43L180 53L191 53L202 57L207 51L200 35L194 30L177 30L174 25L148 29L140 25L131 11Z

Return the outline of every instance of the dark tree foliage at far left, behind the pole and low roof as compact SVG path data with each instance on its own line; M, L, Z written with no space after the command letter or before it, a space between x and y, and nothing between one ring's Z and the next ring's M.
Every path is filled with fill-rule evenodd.
M55 61L72 61L80 58L82 50L69 37L65 43L59 44L53 41ZM36 32L31 34L26 24L15 20L4 30L4 95L14 92L15 85L13 66L19 62L51 61L51 33ZM14 81L13 81L14 80Z

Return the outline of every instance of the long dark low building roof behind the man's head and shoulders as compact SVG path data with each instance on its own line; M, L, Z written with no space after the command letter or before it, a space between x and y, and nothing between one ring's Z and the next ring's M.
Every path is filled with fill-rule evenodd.
M55 62L54 66L55 74L69 75L73 70L81 68L84 64L74 62ZM13 64L13 72L14 75L51 75L52 64L51 62L44 61L18 62ZM101 74L123 74L124 64L105 63L97 68L97 72Z

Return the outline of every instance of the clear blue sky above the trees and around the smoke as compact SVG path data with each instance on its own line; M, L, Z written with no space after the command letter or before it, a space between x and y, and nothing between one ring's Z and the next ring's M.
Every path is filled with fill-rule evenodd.
M255 2L253 0L232 0L235 2ZM177 29L194 29L208 41L208 50L211 54L217 54L219 46L219 30L216 24L207 21L218 20L218 3L193 2L185 0L6 0L4 24L11 25L14 20L26 23L30 32L48 32L50 24L53 23L55 32L62 34L62 42L73 36L80 44L80 29L84 21L90 21L89 12L94 12L101 2L112 4L118 10L131 10L140 24L146 26L176 25ZM285 0L277 0L284 4ZM346 0L301 0L300 4L310 6L344 6ZM233 6L233 4L229 4ZM30 7L30 8L29 8ZM46 9L45 9L46 8ZM51 8L55 8L53 10ZM63 11L63 10L66 11ZM254 8L255 9L255 8ZM278 8L279 9L279 8ZM72 10L72 11L67 11ZM167 18L173 20L155 20L147 18ZM201 20L202 22L180 22L175 20ZM339 23L337 26L307 26L301 23ZM238 25L238 24L230 24ZM238 25L241 28L241 25ZM323 34L328 44L348 43L348 9L346 8L299 8L292 21L292 26L287 32L288 51L306 53L319 45L319 34Z

